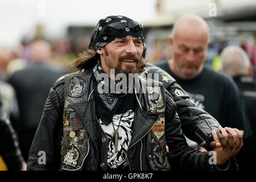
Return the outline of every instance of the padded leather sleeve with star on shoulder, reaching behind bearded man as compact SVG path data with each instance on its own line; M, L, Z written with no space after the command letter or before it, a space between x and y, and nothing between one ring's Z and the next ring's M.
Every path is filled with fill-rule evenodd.
M167 72L147 64L147 73L152 73L154 80L163 83L176 104L176 112L179 115L181 129L191 140L197 142L207 150L210 150L209 143L212 142L212 130L218 131L220 123L207 111L197 107L189 98L188 94L177 84L176 80Z

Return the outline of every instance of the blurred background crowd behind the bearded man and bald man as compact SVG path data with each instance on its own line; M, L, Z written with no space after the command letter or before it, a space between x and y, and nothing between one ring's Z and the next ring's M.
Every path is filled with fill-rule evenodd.
M206 20L211 37L205 64L219 71L220 53L225 47L236 45L247 53L253 68L251 77L256 82L256 26L246 29L243 24L252 22L255 25L256 14L239 21L217 18ZM159 63L171 58L168 35L172 24L144 26L148 62ZM57 78L68 73L68 64L75 59L77 53L88 47L94 28L70 26L66 38L52 40L44 35L44 26L38 24L31 30L31 38L24 36L19 45L0 48L2 110L16 132L25 163L49 89ZM221 34L217 34L219 32ZM255 107L250 109L255 110Z

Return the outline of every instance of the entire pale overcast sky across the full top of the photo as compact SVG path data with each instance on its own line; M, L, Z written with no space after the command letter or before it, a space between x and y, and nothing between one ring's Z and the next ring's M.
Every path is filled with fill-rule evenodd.
M209 5L233 9L253 0L162 0L162 12L175 15L197 14L208 16ZM65 36L68 26L96 26L99 19L108 15L125 15L144 24L159 23L155 19L157 0L6 0L0 1L0 48L18 44L24 35L32 35L36 24L44 26L48 38ZM224 12L227 12L226 10ZM219 13L219 12L217 12ZM154 21L155 20L155 21Z

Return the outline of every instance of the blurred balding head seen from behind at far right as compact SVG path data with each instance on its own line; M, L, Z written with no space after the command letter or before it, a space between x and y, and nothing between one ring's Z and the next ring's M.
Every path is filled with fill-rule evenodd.
M228 46L221 52L221 71L229 76L249 75L250 60L238 46Z

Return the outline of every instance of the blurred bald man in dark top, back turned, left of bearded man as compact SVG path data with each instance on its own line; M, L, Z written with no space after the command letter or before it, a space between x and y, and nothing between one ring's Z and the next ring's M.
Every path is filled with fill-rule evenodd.
M30 56L26 67L15 71L9 78L18 100L20 118L14 123L18 133L20 150L27 162L49 89L67 70L51 64L51 46L46 40L30 44Z

